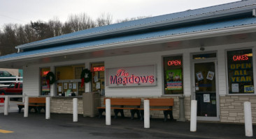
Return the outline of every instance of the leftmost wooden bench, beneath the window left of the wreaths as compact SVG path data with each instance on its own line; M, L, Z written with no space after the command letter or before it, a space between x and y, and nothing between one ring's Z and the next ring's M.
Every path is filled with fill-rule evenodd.
M24 108L24 104L17 104L19 113ZM40 113L41 109L45 109L45 97L29 97L29 113L34 109L36 113Z

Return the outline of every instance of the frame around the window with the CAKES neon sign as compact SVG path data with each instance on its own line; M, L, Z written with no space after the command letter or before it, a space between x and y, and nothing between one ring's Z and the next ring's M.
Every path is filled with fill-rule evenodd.
M230 94L229 93L229 75L228 75L228 65L227 65L227 51L239 51L239 50L244 50L244 49L252 49L252 53L253 53L253 81L254 81L254 83L253 83L253 87L254 87L254 92L253 93L234 93L234 94ZM239 49L225 49L225 74L226 74L226 95L230 95L230 96L239 96L239 95L241 95L241 96L244 96L244 95L256 95L256 92L255 92L255 90L256 90L256 88L255 88L255 85L256 85L256 83L255 83L255 79L256 79L256 76L255 76L255 74L256 74L256 72L255 72L255 48L254 47L242 47L242 48L239 48Z

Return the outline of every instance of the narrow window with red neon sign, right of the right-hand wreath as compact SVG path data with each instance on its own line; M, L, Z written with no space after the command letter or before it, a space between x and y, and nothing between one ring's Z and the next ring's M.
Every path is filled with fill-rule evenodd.
M105 94L105 67L104 63L92 63L92 92Z

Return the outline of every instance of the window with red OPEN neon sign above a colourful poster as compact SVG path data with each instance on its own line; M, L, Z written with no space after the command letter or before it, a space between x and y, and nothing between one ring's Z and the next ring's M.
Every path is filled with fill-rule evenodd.
M164 57L164 95L177 94L183 94L183 58Z

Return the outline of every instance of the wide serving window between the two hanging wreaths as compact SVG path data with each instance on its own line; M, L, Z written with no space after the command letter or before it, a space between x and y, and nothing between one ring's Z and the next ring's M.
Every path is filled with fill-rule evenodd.
M69 65L56 67L57 95L62 97L81 96L85 92L85 85L81 87L80 74L85 65Z

